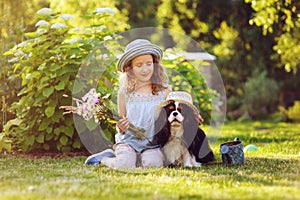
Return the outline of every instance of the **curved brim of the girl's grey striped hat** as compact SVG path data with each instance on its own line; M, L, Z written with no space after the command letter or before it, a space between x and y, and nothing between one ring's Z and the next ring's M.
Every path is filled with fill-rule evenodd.
M130 49L127 52L125 52L118 60L117 68L118 71L124 72L124 65L132 60L133 58L145 54L151 54L154 55L158 60L161 60L163 57L163 51L162 49L154 44L145 44L140 45L134 49Z

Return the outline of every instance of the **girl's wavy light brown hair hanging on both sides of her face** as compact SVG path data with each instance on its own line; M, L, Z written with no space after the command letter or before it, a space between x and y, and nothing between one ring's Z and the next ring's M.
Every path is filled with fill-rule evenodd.
M161 65L159 60L152 55L154 72L151 77L152 84L152 94L157 95L158 92L167 89L168 86L168 76L165 72L164 67ZM135 90L135 77L132 70L132 61L127 62L124 65L124 70L126 73L126 81L125 81L125 91L126 93L132 93Z

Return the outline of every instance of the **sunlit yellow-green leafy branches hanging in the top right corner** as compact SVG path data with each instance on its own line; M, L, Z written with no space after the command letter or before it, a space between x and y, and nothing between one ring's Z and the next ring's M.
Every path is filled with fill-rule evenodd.
M273 58L287 72L300 69L300 2L296 0L245 0L255 11L251 25L262 27L263 35L275 34Z

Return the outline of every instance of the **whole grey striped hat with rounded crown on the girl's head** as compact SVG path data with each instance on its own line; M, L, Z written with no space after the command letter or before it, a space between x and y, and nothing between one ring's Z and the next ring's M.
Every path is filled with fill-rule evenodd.
M124 72L124 65L128 61L132 60L137 56L145 54L152 54L158 60L161 60L163 57L163 51L159 46L152 44L151 42L145 39L136 39L126 46L124 54L118 60L118 71Z

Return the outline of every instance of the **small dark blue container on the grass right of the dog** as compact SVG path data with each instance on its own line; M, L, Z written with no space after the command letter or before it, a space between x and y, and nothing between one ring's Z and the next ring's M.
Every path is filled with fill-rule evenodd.
M235 165L245 163L243 144L240 140L221 144L220 152L223 164Z

